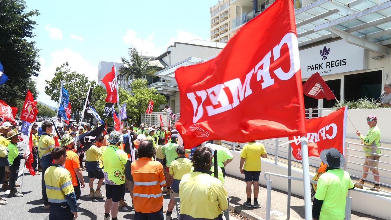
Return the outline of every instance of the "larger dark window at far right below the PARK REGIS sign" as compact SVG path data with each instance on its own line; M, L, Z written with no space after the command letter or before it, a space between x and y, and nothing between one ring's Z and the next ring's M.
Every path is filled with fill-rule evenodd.
M344 76L344 99L377 99L382 92L382 70Z

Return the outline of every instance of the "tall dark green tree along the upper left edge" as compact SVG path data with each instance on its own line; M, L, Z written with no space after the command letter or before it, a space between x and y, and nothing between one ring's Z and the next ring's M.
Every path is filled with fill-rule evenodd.
M38 76L41 68L39 50L29 41L36 25L31 17L38 14L37 10L28 11L24 1L0 0L0 61L9 77L0 85L0 97L11 106L25 99L28 88L34 97L38 95L31 76Z

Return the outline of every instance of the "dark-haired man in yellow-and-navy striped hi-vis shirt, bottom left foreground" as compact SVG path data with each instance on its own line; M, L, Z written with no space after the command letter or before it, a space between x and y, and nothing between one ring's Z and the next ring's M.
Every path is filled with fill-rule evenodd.
M54 163L45 171L45 183L50 205L49 220L71 220L77 218L76 194L72 186L71 174L60 164L66 161L66 149L52 150Z

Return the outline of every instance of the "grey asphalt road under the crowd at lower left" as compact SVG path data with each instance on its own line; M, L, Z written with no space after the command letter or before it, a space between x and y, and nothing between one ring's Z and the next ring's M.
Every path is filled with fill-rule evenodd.
M27 140L27 136L22 135ZM27 141L26 141L27 142ZM21 153L25 152L26 144L20 144ZM23 164L23 161L21 162ZM21 198L8 197L9 190L5 191L0 189L0 196L7 198L8 204L0 206L0 219L31 219L40 220L48 219L49 211L43 209L43 200L41 200L41 178L42 175L32 176L27 169L24 169L24 176L22 176L22 166L20 169L20 177L18 184L22 185ZM81 189L81 197L77 201L80 220L95 220L103 219L104 216L104 201L105 199L90 199L90 189L88 188L88 176L87 172L83 171L84 181L86 187ZM23 182L23 184L22 184ZM94 189L97 187L97 180L94 181ZM21 188L18 188L21 190ZM106 195L105 186L102 186L102 195ZM129 191L125 194L125 200L128 205L131 205L131 197ZM167 209L169 203L169 197L164 195L164 208ZM134 210L127 206L119 209L118 219L133 219ZM172 212L173 219L176 219L177 214L174 208Z

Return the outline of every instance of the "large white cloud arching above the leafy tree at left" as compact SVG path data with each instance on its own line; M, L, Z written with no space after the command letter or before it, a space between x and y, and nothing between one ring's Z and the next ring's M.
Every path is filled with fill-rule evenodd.
M91 65L83 56L77 52L74 52L68 48L63 50L56 50L50 54L51 63L40 58L41 71L39 76L33 78L36 81L36 87L39 91L37 101L47 103L50 106L57 106L57 103L50 100L50 97L45 93L45 79L52 80L56 68L68 61L71 71L75 71L80 74L85 74L89 80L97 80L98 67Z

